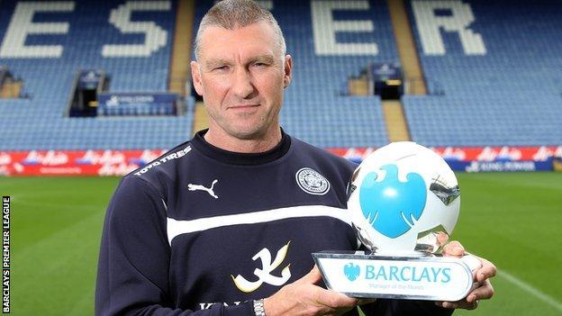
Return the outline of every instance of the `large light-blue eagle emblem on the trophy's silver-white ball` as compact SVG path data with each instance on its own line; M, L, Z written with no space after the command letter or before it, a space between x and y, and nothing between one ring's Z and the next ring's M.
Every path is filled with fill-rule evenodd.
M406 175L406 182L398 180L398 167L385 165L385 178L376 182L376 172L365 176L359 190L361 212L369 224L388 238L402 236L420 220L425 207L427 190L417 173Z

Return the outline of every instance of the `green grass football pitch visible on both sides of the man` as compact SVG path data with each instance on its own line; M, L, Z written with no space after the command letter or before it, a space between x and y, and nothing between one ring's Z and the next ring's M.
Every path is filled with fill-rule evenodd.
M498 266L495 296L456 315L562 315L562 174L459 174L452 239ZM115 177L0 177L11 205L14 315L94 313L105 206Z

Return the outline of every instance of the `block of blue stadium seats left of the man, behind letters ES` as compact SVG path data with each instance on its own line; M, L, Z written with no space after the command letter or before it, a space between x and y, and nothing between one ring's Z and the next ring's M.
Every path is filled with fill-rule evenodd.
M175 21L174 1L168 2L168 9L134 11L131 21L150 21L167 33L163 47L146 56L133 56L134 50L128 49L132 51L131 56L104 57L104 45L140 44L144 35L122 33L109 22L111 11L124 1L74 3L69 12L67 8L67 12L33 15L33 23L68 23L66 34L31 34L25 42L26 46L60 45L63 50L59 57L44 57L45 52L41 50L27 58L0 56L0 65L6 65L14 76L23 78L24 93L29 95L28 99L0 100L3 131L0 150L159 149L188 139L193 121L189 110L185 116L177 117L65 117L71 86L79 68L104 68L111 76L111 91L167 91ZM0 36L5 36L16 4L16 1L2 2ZM59 10L56 5L59 3L50 7L50 11ZM193 102L190 104L193 106Z

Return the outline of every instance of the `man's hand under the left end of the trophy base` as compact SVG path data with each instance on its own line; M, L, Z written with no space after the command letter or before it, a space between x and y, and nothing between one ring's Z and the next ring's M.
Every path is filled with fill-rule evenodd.
M277 293L264 300L267 316L277 315L340 315L357 305L374 302L359 300L335 293L316 285L322 278L314 266L308 275L286 284Z

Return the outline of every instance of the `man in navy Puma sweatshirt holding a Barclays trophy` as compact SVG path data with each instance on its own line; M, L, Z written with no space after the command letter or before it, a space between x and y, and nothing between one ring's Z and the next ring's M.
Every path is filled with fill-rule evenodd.
M192 76L209 114L198 132L123 177L104 223L96 314L450 314L463 302L360 301L319 286L311 253L356 249L345 187L353 166L278 122L292 59L275 19L249 0L213 6ZM460 255L460 244L447 252Z

